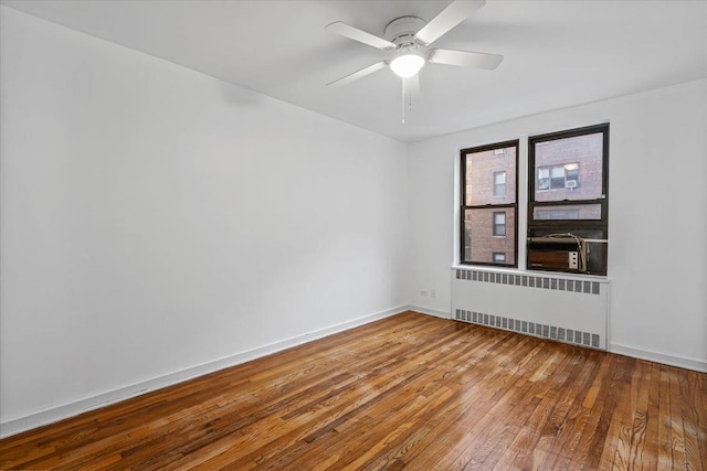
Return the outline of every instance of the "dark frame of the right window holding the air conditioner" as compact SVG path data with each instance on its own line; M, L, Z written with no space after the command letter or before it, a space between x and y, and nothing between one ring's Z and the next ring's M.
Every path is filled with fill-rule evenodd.
M528 237L538 234L542 231L548 231L549 233L564 233L571 229L574 231L600 231L603 235L603 239L609 238L609 122L604 122L601 125L587 126L582 128L568 129L557 132L549 132L537 136L528 137L528 204L527 204L527 235ZM580 136L602 133L602 184L601 184L601 195L598 199L590 200L558 200L558 201L536 201L536 186L537 181L539 180L538 171L536 170L536 144L538 142L548 142L560 139L569 139ZM568 163L574 163L574 157ZM577 162L579 163L579 162ZM550 165L552 167L552 165ZM550 169L550 167L540 167ZM540 169L538 168L538 169ZM567 181L567 174L566 174ZM578 186L580 185L579 174L578 174ZM551 184L550 184L551 186ZM548 190L538 190L538 192L549 192ZM601 217L598 220L536 220L534 217L536 208L539 211L552 210L557 206L585 206L585 205L597 205L601 206ZM526 250L526 267L531 270L528 263L529 250ZM604 251L602 256L602 270L599 272L587 272L587 275L606 275L608 268L608 250Z

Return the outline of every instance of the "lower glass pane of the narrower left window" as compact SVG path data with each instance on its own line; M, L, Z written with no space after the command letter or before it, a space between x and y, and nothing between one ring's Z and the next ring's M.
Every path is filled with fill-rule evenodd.
M500 215L494 215L500 213ZM464 211L464 254L463 261L477 264L498 264L494 253L504 254L505 265L515 265L516 250L516 210L507 207L473 208ZM503 222L505 237L494 236L494 222Z

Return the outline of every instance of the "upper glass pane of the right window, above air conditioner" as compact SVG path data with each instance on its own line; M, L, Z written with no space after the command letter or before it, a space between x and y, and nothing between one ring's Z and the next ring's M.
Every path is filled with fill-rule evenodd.
M536 142L535 201L601 199L602 152L601 132Z

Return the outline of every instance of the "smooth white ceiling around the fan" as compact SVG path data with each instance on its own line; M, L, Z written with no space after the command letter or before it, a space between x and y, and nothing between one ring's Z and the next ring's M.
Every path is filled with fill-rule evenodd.
M428 64L403 125L389 69L326 87L390 54L324 26L382 36L394 18L429 21L449 0L2 3L408 142L707 77L707 1L488 0L434 45L504 62L493 72Z

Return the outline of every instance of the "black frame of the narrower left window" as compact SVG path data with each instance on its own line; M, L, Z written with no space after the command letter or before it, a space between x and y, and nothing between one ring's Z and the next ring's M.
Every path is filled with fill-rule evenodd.
M503 203L503 204L476 204L476 205L466 205L466 190L467 190L467 183L466 183L466 154L468 153L476 153L476 152L485 152L485 151L495 151L499 148L504 149L504 152L502 153L496 153L494 152L494 157L506 157L507 152L505 151L505 149L509 148L509 147L515 147L516 148L516 178L515 178L515 202L514 203ZM519 199L519 193L518 193L518 181L519 179L519 158L520 158L520 139L513 139L513 140L508 140L508 141L502 141L502 142L494 142L494 143L489 143L489 144L484 144L484 146L476 146L476 147L472 147L472 148L466 148L466 149L462 149L460 150L460 181L458 181L458 185L460 185L460 225L458 225L458 244L460 244L460 256L458 256L458 263L460 265L471 265L471 266L493 266L493 267L505 267L505 268L518 268L518 220L519 220L519 215L518 215L518 199ZM495 184L492 185L492 197L494 197L494 190L495 190ZM508 174L506 171L506 194L508 195ZM498 263L486 263L486 261L467 261L464 259L464 254L465 254L465 214L466 214L466 210L506 210L506 208L511 208L514 211L514 263L513 264L498 264ZM493 217L493 216L492 216ZM507 217L506 217L507 221ZM493 223L493 221L492 221ZM493 237L507 237L507 236L494 236L493 235L493 227L494 225L492 224L492 236ZM506 234L508 234L508 224L506 224ZM493 257L493 255L492 255ZM507 258L507 257L506 257ZM493 258L492 258L493 260Z

